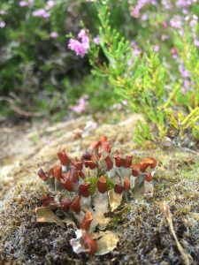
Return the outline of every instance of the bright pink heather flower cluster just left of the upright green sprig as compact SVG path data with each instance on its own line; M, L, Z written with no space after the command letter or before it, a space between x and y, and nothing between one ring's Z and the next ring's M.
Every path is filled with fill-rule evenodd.
M73 50L77 56L81 58L85 56L89 49L89 38L85 29L81 29L78 34L78 40L70 39L68 43L68 48Z

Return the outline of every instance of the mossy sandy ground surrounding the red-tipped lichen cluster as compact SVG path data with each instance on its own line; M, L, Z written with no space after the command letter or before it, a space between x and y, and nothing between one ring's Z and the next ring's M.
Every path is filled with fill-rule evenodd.
M190 264L199 264L199 170L197 154L178 148L135 150L132 115L117 124L95 125L92 117L49 125L26 124L0 128L0 260L14 264L183 264L183 255L160 208L166 201L174 231ZM74 135L82 130L82 137ZM122 218L110 228L123 236L111 254L101 258L73 254L72 227L35 223L34 208L45 187L37 170L57 162L57 150L79 156L90 142L106 135L119 149L136 155L153 155L159 161L152 199L130 202Z

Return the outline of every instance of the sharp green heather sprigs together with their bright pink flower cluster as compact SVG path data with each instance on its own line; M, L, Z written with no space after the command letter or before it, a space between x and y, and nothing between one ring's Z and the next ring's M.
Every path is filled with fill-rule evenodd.
M177 101L180 100L180 95L183 95L184 91L181 87L186 83L186 80L182 83L181 79L172 79L165 64L160 61L156 50L151 49L149 44L145 52L142 52L138 48L134 49L134 44L132 45L126 41L116 29L112 29L108 3L109 1L99 1L96 4L101 23L97 37L94 39L90 37L89 41L88 30L81 30L80 34L84 34L86 43L70 39L68 47L81 57L88 53L90 64L93 67L93 74L108 78L111 85L115 88L116 95L119 95L121 99L126 99L131 110L143 113L147 123L155 125L153 131L157 131L157 134L153 133L151 135L149 133L151 131L149 124L144 123L141 125L139 123L135 133L135 140L139 143L144 139L161 141L164 139L166 131L170 126L171 119L168 118L168 112L171 112L171 109L175 109L176 99ZM184 46L188 46L188 42L184 42L185 44L182 45L181 50L186 50ZM85 46L87 43L89 45ZM183 64L185 66L187 64L194 65L194 57L196 55L198 57L195 44L189 46L187 47L189 53L186 53L187 57L184 56ZM99 56L101 51L103 51L106 60L102 61ZM190 59L191 57L192 59ZM182 58L180 60L183 61ZM195 122L198 115L198 90L197 81L195 82L194 79L197 79L198 70L197 67L195 67L195 70L193 66L189 66L190 72L192 71L191 74L188 70L184 69L183 64L180 64L181 74L187 81L192 78L192 83L195 83L194 89L190 87L188 91L190 96L195 98L195 103L189 102L187 111L190 112L190 115L186 111L185 115L188 115L188 126L197 128ZM183 101L180 101L180 105L185 107ZM178 108L177 111L182 110ZM196 118L191 118L192 113L195 113ZM185 132L185 130L182 129L180 131L180 137L182 137L182 132Z

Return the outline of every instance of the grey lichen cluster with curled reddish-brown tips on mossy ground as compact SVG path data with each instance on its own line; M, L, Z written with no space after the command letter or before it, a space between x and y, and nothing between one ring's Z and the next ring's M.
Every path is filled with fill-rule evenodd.
M118 208L122 201L129 201L136 191L142 191L145 181L152 180L157 161L147 157L133 163L132 155L111 154L111 142L106 137L94 142L80 159L71 159L65 150L59 151L57 157L60 163L49 172L38 171L57 195L41 195L37 222L60 224L73 220L78 228L77 238L71 240L75 253L96 254L102 242L93 232L105 231L110 221L105 214Z

